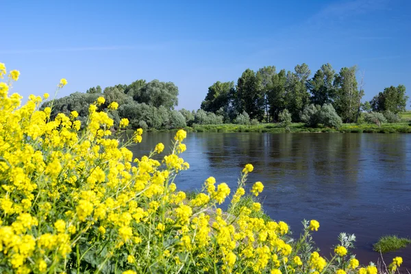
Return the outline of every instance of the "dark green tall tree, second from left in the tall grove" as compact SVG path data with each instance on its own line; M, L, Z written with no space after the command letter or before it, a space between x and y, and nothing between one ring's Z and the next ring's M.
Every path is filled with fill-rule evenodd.
M239 113L245 111L249 114L250 119L262 121L264 117L264 95L258 88L256 73L251 69L245 70L238 78L234 103Z

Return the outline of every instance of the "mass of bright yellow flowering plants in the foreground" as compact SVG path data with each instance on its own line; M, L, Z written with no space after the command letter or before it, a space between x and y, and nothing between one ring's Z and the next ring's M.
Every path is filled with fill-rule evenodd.
M142 141L142 129L120 144L110 136L112 119L97 111L100 99L79 133L76 113L50 120L49 108L36 110L41 97L20 108L8 89L0 83L1 273L377 273L372 264L358 269L347 253L353 236L340 234L327 260L314 251L317 221L303 221L292 240L286 223L256 214L257 201L240 207L251 164L230 202L238 214L221 210L231 190L214 177L194 198L178 191L176 175L188 169L179 157L184 130L162 160L161 143L134 159L127 145ZM256 182L251 194L263 188ZM401 262L395 258L390 271Z

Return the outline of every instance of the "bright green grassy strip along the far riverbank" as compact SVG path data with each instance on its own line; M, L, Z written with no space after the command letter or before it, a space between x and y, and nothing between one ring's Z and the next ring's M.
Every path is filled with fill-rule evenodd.
M303 123L292 123L290 125L290 132L353 132L353 133L411 133L411 126L408 122L401 123L386 123L381 127L371 124L343 124L339 129L329 127L306 127ZM270 132L270 133L284 133L286 129L277 123L267 123L259 125L236 125L236 124L222 124L222 125L193 125L188 130L193 132Z

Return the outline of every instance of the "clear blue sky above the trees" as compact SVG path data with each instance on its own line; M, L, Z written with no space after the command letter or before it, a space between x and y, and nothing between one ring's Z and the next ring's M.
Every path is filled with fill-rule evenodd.
M197 109L208 86L242 71L305 62L314 73L364 71L364 100L404 84L411 95L411 1L3 1L0 62L14 92L59 97L160 79ZM410 108L408 103L407 108Z

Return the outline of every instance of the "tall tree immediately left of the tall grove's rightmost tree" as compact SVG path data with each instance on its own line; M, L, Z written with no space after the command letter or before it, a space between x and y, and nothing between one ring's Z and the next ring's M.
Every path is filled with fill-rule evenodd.
M323 64L321 69L316 71L314 77L308 81L307 85L312 95L312 103L323 105L334 101L335 89L333 81L335 73L331 64Z

